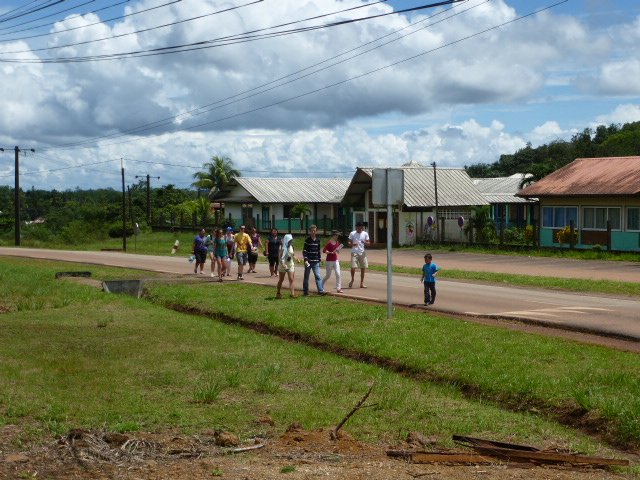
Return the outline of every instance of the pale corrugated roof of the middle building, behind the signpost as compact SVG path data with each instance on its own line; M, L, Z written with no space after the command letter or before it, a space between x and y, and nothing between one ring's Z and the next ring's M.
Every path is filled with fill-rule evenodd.
M409 208L433 207L436 204L433 168L423 166L393 167L404 170L404 204ZM362 195L371 188L372 167L358 168L346 196ZM364 175L363 175L364 174ZM365 177L368 184L363 181ZM460 207L489 205L473 185L469 174L461 168L438 168L438 206ZM356 184L357 182L357 184Z

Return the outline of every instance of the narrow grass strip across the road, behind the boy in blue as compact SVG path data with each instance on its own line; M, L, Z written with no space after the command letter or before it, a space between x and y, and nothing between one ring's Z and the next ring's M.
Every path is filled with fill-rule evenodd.
M341 264L342 267L342 264ZM344 265L343 268L347 268ZM383 265L370 265L371 270L386 272ZM404 273L420 276L420 268L394 266L394 273ZM640 282L618 282L613 280L593 280L580 278L537 277L532 275L516 275L508 273L474 272L443 268L438 274L440 279L471 280L480 282L500 283L522 287L565 290L580 293L604 293L611 295L640 296Z

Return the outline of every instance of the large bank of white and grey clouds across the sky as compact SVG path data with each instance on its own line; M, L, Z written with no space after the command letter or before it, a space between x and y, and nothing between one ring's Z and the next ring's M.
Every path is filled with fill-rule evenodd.
M553 113L536 119L535 128L522 128L490 110L481 117L475 113L477 109L499 104L504 111L521 109L524 117L536 98L549 105L558 98L573 99L566 100L567 105L583 98L577 95L576 86L598 95L640 94L640 83L629 80L640 78L640 17L609 30L593 30L577 16L552 10L455 43L515 19L516 10L509 3L464 3L454 11L479 6L440 23L436 22L448 14L435 17L420 25L433 23L428 28L404 30L416 33L397 42L330 68L335 61L323 63L321 67L327 68L316 74L279 88L269 85L262 93L252 89L408 27L409 20L389 16L331 30L131 60L0 63L0 84L6 92L0 110L0 140L8 145L33 145L43 152L25 160L25 185L33 179L33 184L44 188L104 186L105 182L119 188L119 162L84 170L81 165L124 157L156 162L129 161L127 171L132 174L149 172L160 175L161 183L187 186L192 173L213 154L229 155L242 170L265 172L260 175L289 170L350 172L360 165L400 165L410 160L436 161L443 166L493 162L526 141L541 144L572 132L563 129L561 124L568 122L556 120ZM126 11L157 4L157 0L134 1ZM360 5L360 0L263 2L199 21L49 52L33 51L41 41L0 42L0 58L102 55L158 48ZM126 34L220 8L213 0L183 0L153 13L91 27L87 25L99 20L96 15L69 16L56 23L47 46ZM390 8L378 4L340 18ZM412 21L424 20L432 13L423 11ZM82 25L87 27L63 31ZM392 38L396 36L385 41ZM448 43L452 45L439 48ZM29 48L32 51L28 53L2 54ZM416 58L324 89L412 56ZM233 97L245 91L251 96ZM294 97L299 98L285 101ZM277 105L268 107L272 104ZM468 113L456 118L461 110ZM595 114L580 114L595 118ZM606 123L634 121L638 106L629 100L604 117ZM47 146L118 134L165 119L155 128L140 131L139 137L105 139L96 149L45 151ZM395 125L390 125L389 119ZM408 124L412 126L403 126ZM379 125L375 135L366 130L369 125ZM186 128L190 129L182 130ZM523 130L530 131L510 133ZM122 140L132 141L118 143ZM36 173L65 166L74 168ZM0 183L4 183L3 177Z

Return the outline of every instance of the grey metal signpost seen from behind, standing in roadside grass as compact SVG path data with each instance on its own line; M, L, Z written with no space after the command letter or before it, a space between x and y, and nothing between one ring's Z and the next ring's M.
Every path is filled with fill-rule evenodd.
M387 206L387 318L393 318L393 205L404 203L404 170L374 168L372 173L372 201Z

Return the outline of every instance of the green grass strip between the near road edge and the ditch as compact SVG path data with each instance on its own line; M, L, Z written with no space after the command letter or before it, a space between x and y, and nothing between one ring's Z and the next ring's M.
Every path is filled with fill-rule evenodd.
M336 297L274 299L252 285L152 286L151 298L266 324L325 345L383 359L474 398L542 412L640 444L640 357L597 346L514 332Z

